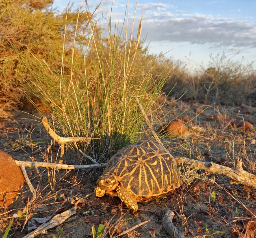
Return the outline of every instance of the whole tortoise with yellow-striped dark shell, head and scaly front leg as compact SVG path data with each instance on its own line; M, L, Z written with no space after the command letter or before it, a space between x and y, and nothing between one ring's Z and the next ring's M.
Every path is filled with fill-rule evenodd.
M97 180L96 197L118 196L126 206L138 210L147 202L182 184L173 156L157 142L142 140L123 147Z

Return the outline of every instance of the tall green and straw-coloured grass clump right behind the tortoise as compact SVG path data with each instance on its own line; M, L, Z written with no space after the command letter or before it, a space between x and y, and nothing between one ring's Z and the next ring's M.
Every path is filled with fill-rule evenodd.
M97 19L102 20L98 12ZM97 162L105 162L118 149L143 136L143 116L135 98L149 113L166 81L165 76L152 77L155 59L149 57L140 40L142 20L137 38L133 38L133 27L128 37L128 21L123 33L116 26L112 29L111 19L106 18L109 19L106 32L102 22L96 25L97 20L89 22L83 32L75 32L71 68L62 64L58 73L46 61L35 58L42 73L30 70L30 77L24 77L28 85L24 93L40 98L52 111L51 123L57 133L88 137L83 143L69 146L77 155L80 155L78 149L86 151ZM78 21L79 12L72 24ZM66 23L65 29L69 24ZM64 37L63 48L65 41ZM65 54L62 62L63 59Z

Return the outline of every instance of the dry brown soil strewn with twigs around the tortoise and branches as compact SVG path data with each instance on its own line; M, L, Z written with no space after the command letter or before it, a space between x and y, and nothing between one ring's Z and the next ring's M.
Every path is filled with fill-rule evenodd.
M251 122L255 123L254 107L250 107L249 116L237 113L244 107L246 105L214 107L192 100L169 103L158 111L158 119L165 114L166 121L184 116L191 120L186 124L188 131L178 137L163 138L162 142L173 155L231 168L235 158L242 158L243 169L256 174L255 124L252 131L244 131L232 127L225 118L212 119L212 115L222 113L235 119L250 116ZM41 124L42 117L35 112L32 114L16 112L12 117L0 119L0 150L16 160L58 162L58 144L47 135ZM156 124L154 128L158 126ZM66 149L63 163L79 164L80 161ZM75 215L38 237L92 237L92 226L97 231L99 224L105 226L104 237L117 237L125 231L127 233L121 237L172 237L162 225L168 209L175 213L174 226L187 237L255 237L256 189L230 184L228 177L203 170L197 173L192 168L181 167L180 170L184 182L180 189L157 200L139 203L134 214L117 197L95 197L96 180L103 169L68 171L27 167L32 185L38 189L38 197L27 217L23 214L14 218L8 237L23 237L29 233L28 224L32 218L60 214L72 208L72 201L80 197L86 199L78 205ZM25 208L24 200L31 196L25 183L14 202L8 208L0 208L0 235L5 232L13 214ZM141 225L144 221L149 222ZM140 226L134 227L136 225Z

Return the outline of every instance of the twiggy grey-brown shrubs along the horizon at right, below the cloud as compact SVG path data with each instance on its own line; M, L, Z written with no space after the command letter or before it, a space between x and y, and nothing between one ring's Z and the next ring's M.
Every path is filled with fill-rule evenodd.
M217 104L246 101L256 105L256 73L251 64L232 61L223 53L210 56L207 67L201 65L194 74L179 61L169 62L169 67L172 69L164 86L165 93L175 86L170 94L177 98L186 92L185 97Z

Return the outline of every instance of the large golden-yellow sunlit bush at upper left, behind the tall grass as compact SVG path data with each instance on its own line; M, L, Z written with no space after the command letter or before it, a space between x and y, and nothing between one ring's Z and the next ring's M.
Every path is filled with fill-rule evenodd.
M63 35L66 16L73 19L76 13L55 12L52 4L52 0L0 2L0 103L12 101L14 109L22 106L24 98L19 89L26 83L24 78L32 79L30 70L54 76L61 70L65 74L66 69L71 68L71 46L76 25L71 24L66 29L65 48ZM90 13L81 12L80 15L77 30L81 32ZM88 36L79 39L86 40ZM65 60L61 64L62 53ZM52 77L52 80L56 81L56 78Z

